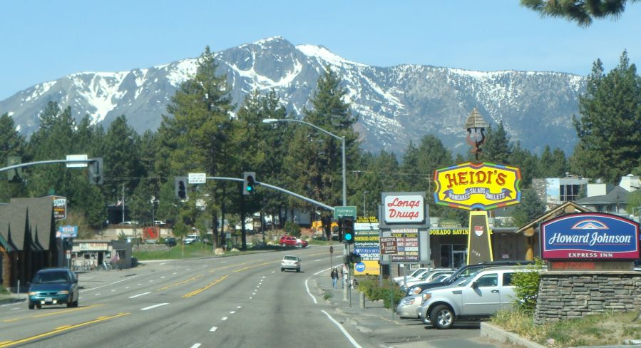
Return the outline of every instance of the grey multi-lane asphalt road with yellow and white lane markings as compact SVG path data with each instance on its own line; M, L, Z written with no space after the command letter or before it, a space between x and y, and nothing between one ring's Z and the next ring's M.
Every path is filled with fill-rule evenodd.
M280 271L285 254L302 258L302 272ZM81 273L78 308L0 306L0 347L401 347L389 337L406 342L407 333L374 309L323 300L327 256L327 247L309 247ZM410 329L434 332L432 343L442 335ZM473 339L478 326L448 337Z

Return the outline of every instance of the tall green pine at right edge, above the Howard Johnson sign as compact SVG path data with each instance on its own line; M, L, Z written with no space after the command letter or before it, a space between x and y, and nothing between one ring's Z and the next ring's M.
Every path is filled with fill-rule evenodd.
M579 98L581 118L574 117L578 135L570 167L586 178L617 183L640 163L641 78L623 52L619 65L605 74L600 60Z

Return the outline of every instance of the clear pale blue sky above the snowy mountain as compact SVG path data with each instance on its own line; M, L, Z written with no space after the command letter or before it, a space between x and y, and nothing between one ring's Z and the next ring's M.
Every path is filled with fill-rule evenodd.
M80 71L128 71L283 36L374 66L607 71L641 63L641 3L580 28L518 0L8 1L0 17L0 100Z

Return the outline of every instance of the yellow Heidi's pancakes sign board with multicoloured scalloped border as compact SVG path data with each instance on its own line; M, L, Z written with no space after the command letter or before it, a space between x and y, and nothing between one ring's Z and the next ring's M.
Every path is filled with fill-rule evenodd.
M434 171L434 202L466 210L491 210L521 201L521 171L493 163L462 163Z

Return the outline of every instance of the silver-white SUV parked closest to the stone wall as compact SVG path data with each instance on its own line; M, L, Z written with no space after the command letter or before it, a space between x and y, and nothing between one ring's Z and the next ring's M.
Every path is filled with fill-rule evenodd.
M523 266L490 267L468 277L456 286L425 290L416 313L424 324L449 329L457 320L490 317L515 300L512 276L516 272L535 272Z

